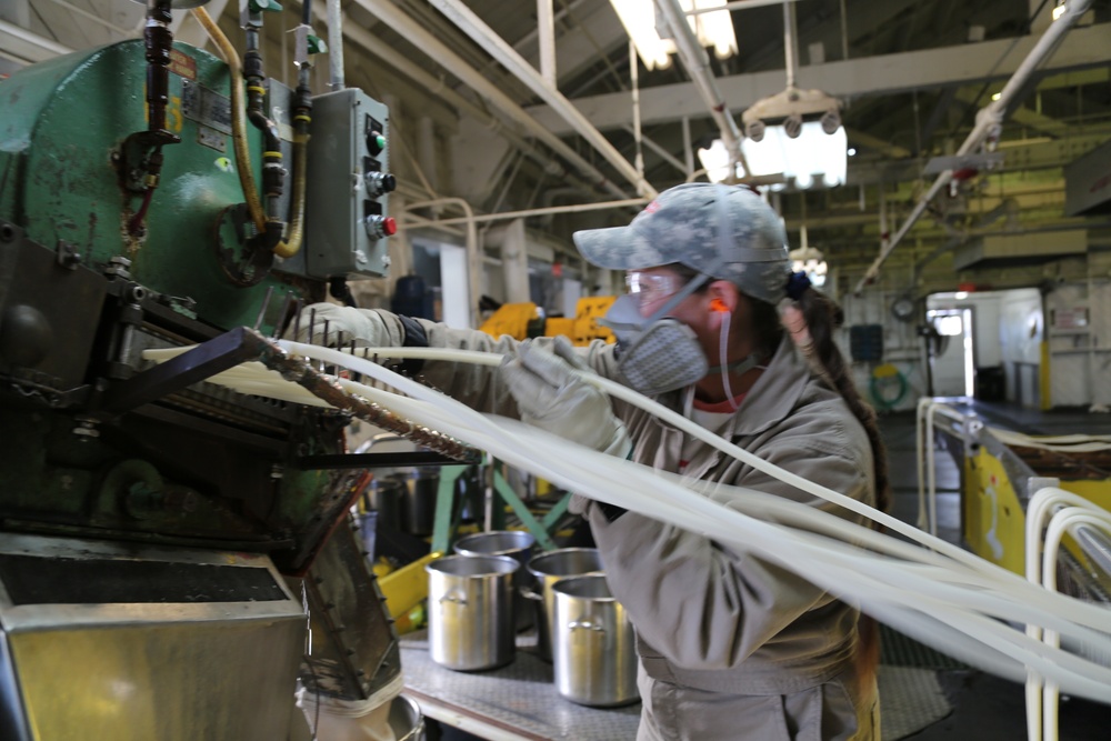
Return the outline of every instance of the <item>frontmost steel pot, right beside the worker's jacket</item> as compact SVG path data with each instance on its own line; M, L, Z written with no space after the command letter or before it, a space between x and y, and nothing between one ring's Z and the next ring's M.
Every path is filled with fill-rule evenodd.
M556 689L581 705L635 702L637 651L632 624L602 574L568 577L556 592Z

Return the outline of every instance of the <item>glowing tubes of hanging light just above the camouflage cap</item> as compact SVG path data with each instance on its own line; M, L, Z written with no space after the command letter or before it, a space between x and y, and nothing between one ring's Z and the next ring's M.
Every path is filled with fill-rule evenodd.
M818 184L833 188L844 184L848 137L844 127L833 133L822 130L821 121L803 121L798 138L791 139L781 126L768 126L759 142L741 141L741 150L753 176L782 173L800 189ZM783 190L788 183L773 183L772 190Z

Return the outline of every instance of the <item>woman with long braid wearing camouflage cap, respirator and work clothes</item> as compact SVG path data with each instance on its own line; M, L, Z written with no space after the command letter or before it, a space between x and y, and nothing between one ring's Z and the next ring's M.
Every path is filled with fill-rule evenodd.
M630 292L607 314L615 346L496 340L333 306L317 307L318 321L357 344L501 352L499 369L429 361L422 373L480 411L859 521L608 400L579 372L615 378L763 460L877 503L883 449L833 341L839 309L791 273L780 219L755 192L678 186L629 226L573 239L591 263L627 271ZM715 493L729 495L742 494ZM874 630L862 630L851 605L804 574L634 510L575 497L572 511L589 521L610 589L637 629L638 741L879 738Z

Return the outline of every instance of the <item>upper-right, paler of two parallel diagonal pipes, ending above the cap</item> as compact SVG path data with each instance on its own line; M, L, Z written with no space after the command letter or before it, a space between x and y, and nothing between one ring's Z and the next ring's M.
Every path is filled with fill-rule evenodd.
M459 27L463 33L469 36L476 43L481 44L502 67L528 86L532 92L548 103L563 120L570 123L579 136L585 139L607 162L632 183L638 194L655 198L655 189L637 172L637 168L621 156L621 152L602 136L602 132L594 128L587 117L571 104L571 101L564 98L552 86L544 82L544 79L537 72L532 64L522 58L516 49L506 43L506 40L487 26L481 18L476 16L470 8L464 6L460 0L430 0L430 2L444 17Z

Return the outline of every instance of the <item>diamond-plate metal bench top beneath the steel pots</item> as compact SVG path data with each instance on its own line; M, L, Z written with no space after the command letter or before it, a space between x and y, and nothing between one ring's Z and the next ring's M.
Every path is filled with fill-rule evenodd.
M492 741L618 741L637 738L640 702L588 708L556 690L552 665L537 651L534 631L519 633L509 664L478 672L444 669L428 652L428 632L401 637L406 694L421 712Z

